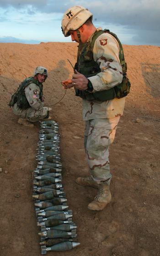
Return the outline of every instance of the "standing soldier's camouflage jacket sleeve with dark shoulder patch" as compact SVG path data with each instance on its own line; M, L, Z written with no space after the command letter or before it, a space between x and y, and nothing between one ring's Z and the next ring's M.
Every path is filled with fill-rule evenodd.
M101 72L88 78L93 85L92 92L108 90L122 82L119 44L112 35L103 33L96 39L93 57L99 64Z

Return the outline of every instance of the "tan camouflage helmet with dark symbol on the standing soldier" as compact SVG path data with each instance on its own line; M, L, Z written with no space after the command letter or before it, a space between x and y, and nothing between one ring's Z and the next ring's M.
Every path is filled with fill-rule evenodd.
M77 30L81 27L85 21L87 21L91 17L92 20L92 13L88 11L87 8L84 8L80 5L75 5L69 8L62 18L62 32L64 37L69 37L69 31Z

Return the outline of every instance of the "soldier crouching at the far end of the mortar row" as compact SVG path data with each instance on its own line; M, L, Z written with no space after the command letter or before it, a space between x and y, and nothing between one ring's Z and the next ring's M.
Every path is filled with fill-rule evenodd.
M49 110L44 107L43 82L47 79L47 69L38 66L34 76L21 82L17 91L12 95L9 106L13 113L19 116L18 123L27 127L33 127L34 122L41 119L51 119ZM30 123L31 122L31 123Z

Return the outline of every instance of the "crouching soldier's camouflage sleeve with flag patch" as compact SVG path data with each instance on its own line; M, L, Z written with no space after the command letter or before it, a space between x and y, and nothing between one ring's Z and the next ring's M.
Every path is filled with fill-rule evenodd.
M43 109L44 103L39 99L40 89L36 84L30 84L25 88L25 94L29 105L36 109Z

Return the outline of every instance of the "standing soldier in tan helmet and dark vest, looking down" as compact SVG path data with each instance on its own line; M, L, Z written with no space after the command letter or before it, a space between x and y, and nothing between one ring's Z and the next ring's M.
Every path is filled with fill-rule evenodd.
M78 42L78 56L72 79L62 81L64 88L75 87L80 96L85 121L85 152L90 176L79 177L82 186L98 188L91 210L102 210L111 202L109 145L123 115L130 83L123 48L117 36L92 23L92 14L82 6L69 8L62 19L62 32Z

